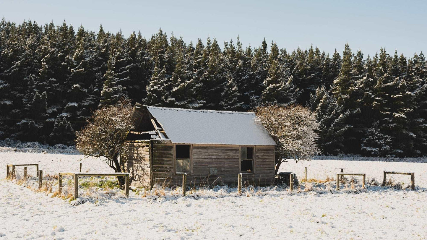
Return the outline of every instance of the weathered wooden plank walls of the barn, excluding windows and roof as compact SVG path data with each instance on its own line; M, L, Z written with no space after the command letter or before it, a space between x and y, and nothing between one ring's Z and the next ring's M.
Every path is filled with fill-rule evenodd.
M181 185L182 174L175 174L174 147L170 141L151 140L151 144L132 142L133 150L128 159L132 185L149 187ZM152 155L150 156L150 147ZM193 144L192 173L187 174L187 185L237 184L240 152L238 145ZM243 174L243 186L270 185L274 182L274 146L255 146L254 173ZM152 165L150 169L150 157ZM217 168L218 174L210 175ZM150 172L151 171L151 172ZM152 182L150 182L152 181Z

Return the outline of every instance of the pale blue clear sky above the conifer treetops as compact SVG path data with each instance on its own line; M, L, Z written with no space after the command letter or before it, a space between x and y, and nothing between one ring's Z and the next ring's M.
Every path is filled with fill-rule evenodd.
M237 35L245 46L259 46L265 37L293 50L310 44L332 53L345 42L355 51L373 55L380 47L412 57L427 51L427 1L202 1L202 0L1 0L6 20L24 19L44 24L65 19L77 29L97 32L99 24L110 32L135 30L149 38L158 29L182 35L189 42L208 35L223 41Z

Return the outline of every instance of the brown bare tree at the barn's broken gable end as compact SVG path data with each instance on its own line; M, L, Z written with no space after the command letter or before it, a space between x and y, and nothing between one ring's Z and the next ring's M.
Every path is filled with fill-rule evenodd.
M94 111L88 125L76 132L76 148L85 157L101 158L115 173L124 172L125 161L119 155L127 154L129 149L124 143L132 129L131 111L130 100L124 99ZM124 184L123 177L117 179Z

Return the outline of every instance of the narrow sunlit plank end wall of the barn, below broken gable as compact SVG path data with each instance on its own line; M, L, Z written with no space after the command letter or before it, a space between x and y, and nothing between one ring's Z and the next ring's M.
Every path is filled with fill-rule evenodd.
M150 166L150 142L128 142L129 156L126 158L126 169L131 174L132 186L149 188L151 184L152 169Z

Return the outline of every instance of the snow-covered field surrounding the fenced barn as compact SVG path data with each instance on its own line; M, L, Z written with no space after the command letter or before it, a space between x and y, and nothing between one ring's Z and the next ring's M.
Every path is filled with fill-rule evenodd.
M39 163L44 174L60 171L108 172L99 160L81 155L0 152L6 164ZM426 163L312 160L282 164L282 171L303 178L336 177L335 168L382 179L382 170L414 171L416 190L360 184L334 190L334 183L307 183L289 193L281 188L228 187L200 190L182 197L178 190L164 196L122 190L100 191L71 205L52 193L36 192L3 180L0 171L1 239L426 239ZM19 171L19 170L18 170ZM29 169L29 174L30 174ZM409 176L405 176L409 177ZM405 184L407 178L398 179ZM80 198L80 197L79 197Z

